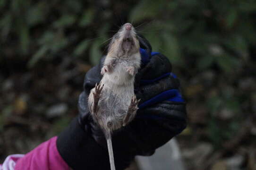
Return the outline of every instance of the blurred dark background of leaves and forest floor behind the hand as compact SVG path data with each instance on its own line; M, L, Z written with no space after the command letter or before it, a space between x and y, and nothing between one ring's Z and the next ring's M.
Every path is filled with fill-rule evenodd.
M181 80L188 169L256 170L255 0L0 0L0 162L68 125L126 22Z

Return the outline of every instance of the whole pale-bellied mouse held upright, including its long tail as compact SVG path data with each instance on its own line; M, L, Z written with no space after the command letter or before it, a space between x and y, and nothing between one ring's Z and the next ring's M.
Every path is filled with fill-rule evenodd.
M141 65L140 45L135 27L126 23L113 35L104 60L102 80L90 91L88 106L108 145L111 170L115 170L111 135L136 116L135 76Z

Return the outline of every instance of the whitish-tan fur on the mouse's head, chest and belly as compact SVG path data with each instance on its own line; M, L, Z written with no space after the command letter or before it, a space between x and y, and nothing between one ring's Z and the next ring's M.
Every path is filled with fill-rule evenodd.
M121 127L122 120L126 116L128 107L130 105L134 94L134 79L135 75L140 68L140 52L139 42L136 38L134 28L130 30L130 36L133 41L133 46L129 51L122 49L122 42L126 37L127 30L123 26L119 32L119 38L113 39L106 56L103 67L108 69L102 77L103 90L98 102L98 115L100 119L94 120L102 127L103 130L108 130L108 122L112 122L113 126L110 131L116 130ZM104 69L104 68L102 68ZM88 103L92 107L94 105L94 89L92 89Z

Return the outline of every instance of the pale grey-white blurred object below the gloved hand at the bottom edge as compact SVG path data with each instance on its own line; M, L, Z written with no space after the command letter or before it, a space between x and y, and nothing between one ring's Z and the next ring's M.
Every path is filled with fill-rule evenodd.
M158 148L152 156L137 156L139 170L186 170L175 138Z

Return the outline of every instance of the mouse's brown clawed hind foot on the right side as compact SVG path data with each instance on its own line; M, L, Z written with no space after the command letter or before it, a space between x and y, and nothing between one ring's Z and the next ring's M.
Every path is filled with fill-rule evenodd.
M132 97L130 106L128 107L127 114L126 114L125 118L123 119L123 126L126 126L135 117L136 112L139 109L138 108L139 101L140 100L136 99L136 96Z

